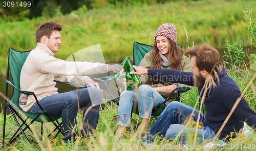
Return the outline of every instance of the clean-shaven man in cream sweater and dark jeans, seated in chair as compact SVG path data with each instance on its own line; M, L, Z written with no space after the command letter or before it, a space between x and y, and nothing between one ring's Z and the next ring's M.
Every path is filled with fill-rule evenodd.
M76 130L76 115L81 107L84 108L83 130L84 137L94 130L99 118L99 105L101 103L101 91L98 84L87 75L106 73L109 71L119 72L122 66L119 64L104 64L91 62L69 62L55 58L61 44L61 26L48 22L39 26L36 30L37 47L33 49L26 59L20 73L20 89L33 91L39 100L39 104L50 114L60 115L65 136L64 142L74 141ZM66 81L75 84L89 84L90 88L78 89L66 93L58 93L56 82ZM23 111L36 113L40 111L35 98L21 95L20 107ZM88 110L88 111L87 111ZM85 133L84 133L85 132Z

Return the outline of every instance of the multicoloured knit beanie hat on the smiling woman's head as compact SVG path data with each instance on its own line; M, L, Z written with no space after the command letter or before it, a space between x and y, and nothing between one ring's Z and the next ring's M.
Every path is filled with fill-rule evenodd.
M165 23L161 25L156 31L155 41L157 36L164 36L166 38L169 38L177 45L177 32L173 24Z

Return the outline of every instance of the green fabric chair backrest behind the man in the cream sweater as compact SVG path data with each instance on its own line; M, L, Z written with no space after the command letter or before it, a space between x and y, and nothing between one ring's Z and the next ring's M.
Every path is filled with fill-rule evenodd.
M30 51L17 51L12 48L9 49L7 79L9 78L10 72L13 84L17 89L20 89L20 71L22 70L23 64L27 59L29 53ZM19 92L18 90L14 89L10 104L20 109L18 98Z

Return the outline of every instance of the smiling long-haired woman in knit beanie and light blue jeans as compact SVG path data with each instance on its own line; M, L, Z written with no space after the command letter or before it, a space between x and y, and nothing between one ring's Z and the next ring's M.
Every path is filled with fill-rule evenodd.
M161 25L156 31L154 40L153 50L145 54L139 66L147 69L190 71L190 60L183 55L183 51L177 46L177 32L173 24L165 23ZM119 118L117 121L117 135L119 136L129 126L132 110L138 109L140 118L148 126L150 117L154 113L154 107L163 103L170 93L178 88L178 84L148 78L147 75L143 75L140 78L143 85L140 85L138 90L133 92L124 91L120 96ZM176 95L177 91L174 94ZM174 99L175 97L172 96L168 101L173 101ZM144 132L147 131L147 126L144 128Z

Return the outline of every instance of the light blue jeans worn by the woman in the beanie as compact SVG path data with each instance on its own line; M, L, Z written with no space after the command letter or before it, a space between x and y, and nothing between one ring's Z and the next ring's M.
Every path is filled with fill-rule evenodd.
M119 99L117 125L129 127L132 110L136 109L140 118L150 118L152 109L164 101L165 99L150 85L140 85L137 93L124 91Z

